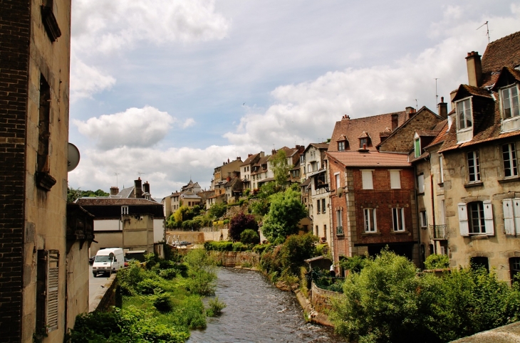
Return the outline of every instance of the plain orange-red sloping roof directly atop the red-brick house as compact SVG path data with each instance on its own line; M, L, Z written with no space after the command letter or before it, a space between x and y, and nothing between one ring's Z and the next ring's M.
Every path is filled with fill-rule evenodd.
M328 157L345 167L411 167L407 154L386 152L328 152Z

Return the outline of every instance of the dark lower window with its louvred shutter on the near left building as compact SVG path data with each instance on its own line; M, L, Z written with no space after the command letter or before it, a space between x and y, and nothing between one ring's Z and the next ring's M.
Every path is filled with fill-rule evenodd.
M38 250L36 270L36 327L46 333L58 329L58 250Z

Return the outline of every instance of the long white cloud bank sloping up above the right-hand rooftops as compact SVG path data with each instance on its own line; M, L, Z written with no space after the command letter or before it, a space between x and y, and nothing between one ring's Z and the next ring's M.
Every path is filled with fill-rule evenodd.
M443 21L456 17L459 11L449 6ZM492 19L496 38L520 28L519 15ZM434 79L439 79L438 94L448 100L452 89L467 83L467 52L478 50L482 54L487 43L475 30L479 21L456 24L433 25L444 39L416 56L388 60L388 65L328 72L316 80L279 86L271 92L274 105L264 112L244 115L236 130L224 137L232 144L264 147L290 145L302 139L308 143L330 137L334 122L342 115L355 118L405 110L406 106L415 107L416 99L418 107L427 105L436 111Z

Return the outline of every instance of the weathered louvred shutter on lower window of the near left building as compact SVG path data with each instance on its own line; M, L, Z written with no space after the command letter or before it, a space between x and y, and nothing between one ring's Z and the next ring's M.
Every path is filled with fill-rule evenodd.
M59 277L58 250L47 252L47 304L46 327L47 332L58 329L58 277Z

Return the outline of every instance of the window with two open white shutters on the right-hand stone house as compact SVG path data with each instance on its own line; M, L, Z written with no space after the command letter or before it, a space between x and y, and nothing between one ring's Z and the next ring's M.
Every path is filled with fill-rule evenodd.
M494 235L493 207L491 201L474 201L471 203L460 203L459 207L459 229L461 236L471 234Z

